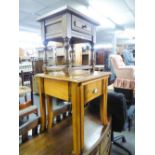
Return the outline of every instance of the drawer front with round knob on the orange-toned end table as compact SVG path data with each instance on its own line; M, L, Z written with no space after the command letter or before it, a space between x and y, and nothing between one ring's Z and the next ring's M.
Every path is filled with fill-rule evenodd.
M102 81L94 81L84 86L85 103L102 94Z

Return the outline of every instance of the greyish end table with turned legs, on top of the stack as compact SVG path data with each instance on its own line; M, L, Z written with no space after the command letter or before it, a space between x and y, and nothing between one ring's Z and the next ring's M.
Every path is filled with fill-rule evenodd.
M65 74L69 74L72 70L79 69L79 67L74 66L74 63L72 63L75 55L74 44L78 43L90 43L91 66L85 66L84 68L94 70L94 43L96 42L96 26L98 23L68 6L43 15L38 21L41 22L42 39L45 46L45 72L49 70L63 70ZM65 65L59 67L47 66L46 52L50 41L61 42L64 45ZM70 47L71 51L69 50Z

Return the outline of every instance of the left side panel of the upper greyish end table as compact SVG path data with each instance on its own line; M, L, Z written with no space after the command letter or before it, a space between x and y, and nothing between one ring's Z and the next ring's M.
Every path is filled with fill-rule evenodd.
M45 34L46 38L56 36L63 33L63 20L62 17L46 19L45 20Z

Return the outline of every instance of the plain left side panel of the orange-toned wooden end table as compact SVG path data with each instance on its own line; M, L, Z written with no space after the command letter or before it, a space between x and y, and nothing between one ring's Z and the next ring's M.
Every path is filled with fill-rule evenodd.
M45 79L44 80L45 94L57 97L59 99L69 100L68 82Z

